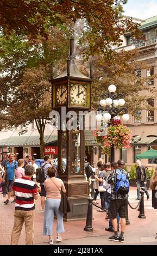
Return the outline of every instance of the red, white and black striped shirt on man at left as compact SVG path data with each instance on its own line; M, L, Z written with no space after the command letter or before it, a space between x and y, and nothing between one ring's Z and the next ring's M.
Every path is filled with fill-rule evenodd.
M12 190L15 192L15 210L34 210L34 194L37 194L37 187L34 181L28 177L16 179Z

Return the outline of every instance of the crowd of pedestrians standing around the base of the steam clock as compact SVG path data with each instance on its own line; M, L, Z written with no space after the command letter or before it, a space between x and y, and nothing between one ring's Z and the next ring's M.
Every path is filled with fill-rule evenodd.
M85 167L89 166L86 164ZM34 231L34 209L36 200L39 197L39 189L41 188L41 212L44 214L43 220L43 235L49 236L48 243L53 245L53 221L54 215L57 217L56 226L56 242L61 242L60 233L64 232L63 214L59 210L61 200L61 190L66 192L64 183L61 179L56 178L56 169L48 155L44 156L42 163L44 170L45 181L37 184L36 169L34 157L27 155L26 159L15 160L14 153L8 155L8 159L4 160L0 169L4 169L3 174L3 197L8 193L5 205L9 204L11 197L14 197L12 203L15 203L14 227L11 234L11 245L17 245L20 239L23 223L26 227L26 245L33 245ZM114 233L109 236L110 241L124 242L124 231L126 218L128 216L128 193L129 190L122 191L124 187L115 187L120 180L119 176L125 176L125 180L129 181L129 173L124 169L125 163L122 160L112 163L104 163L99 159L95 168L95 194L93 203L97 203L97 196L101 198L101 212L106 212L105 220L109 221L109 226L106 231ZM89 180L89 177L87 177ZM149 193L146 189L147 172L141 162L137 161L136 168L136 184L137 184L137 199L139 199L139 190L141 186L145 187L147 199ZM100 188L101 187L101 188ZM103 188L103 189L102 189ZM121 188L121 190L120 190ZM157 209L157 168L155 169L150 181L152 189L152 206ZM120 233L119 233L120 232ZM156 234L157 239L157 234Z

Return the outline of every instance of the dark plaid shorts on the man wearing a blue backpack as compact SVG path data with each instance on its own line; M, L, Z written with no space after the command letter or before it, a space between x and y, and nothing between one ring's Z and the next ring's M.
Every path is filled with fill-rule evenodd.
M127 218L128 199L116 199L110 201L109 218L116 218L117 213L120 218Z

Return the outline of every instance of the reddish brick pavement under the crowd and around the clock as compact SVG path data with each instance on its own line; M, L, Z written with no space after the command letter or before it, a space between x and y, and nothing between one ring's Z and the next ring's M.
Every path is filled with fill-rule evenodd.
M150 191L149 191L150 192ZM136 188L131 187L129 193L129 202L131 205L136 206ZM0 245L9 245L11 230L14 224L14 207L15 204L4 205L5 198L3 198L2 193L0 194L0 230L1 238ZM12 200L12 199L11 199ZM100 203L100 200L98 200ZM145 196L145 215L146 219L137 218L139 211L129 210L129 221L130 225L127 225L125 231L125 245L126 244L155 244L157 245L157 240L154 239L154 234L157 231L156 215L157 212L152 207L151 200L146 200ZM36 201L35 208L35 227L34 227L34 244L35 245L47 245L48 237L42 235L43 230L43 214L40 212L40 199ZM93 233L84 231L86 221L72 221L64 222L65 233L62 234L63 241L60 245L115 245L114 242L108 240L108 236L112 233L105 231L104 228L108 227L108 221L105 221L105 213L98 212L97 208L93 206L93 218L92 227L94 229ZM56 220L54 221L53 230L56 229ZM54 232L55 234L55 232ZM55 238L55 236L54 236ZM21 237L18 245L24 245L25 233L24 227L22 229ZM78 243L77 243L78 241ZM122 243L119 243L122 244ZM55 245L55 243L54 243ZM116 243L117 245L117 243Z

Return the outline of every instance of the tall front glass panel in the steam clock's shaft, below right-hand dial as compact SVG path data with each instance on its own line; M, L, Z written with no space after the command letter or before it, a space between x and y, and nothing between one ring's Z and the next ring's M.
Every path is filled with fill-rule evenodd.
M80 170L80 131L72 131L72 168L75 173Z

